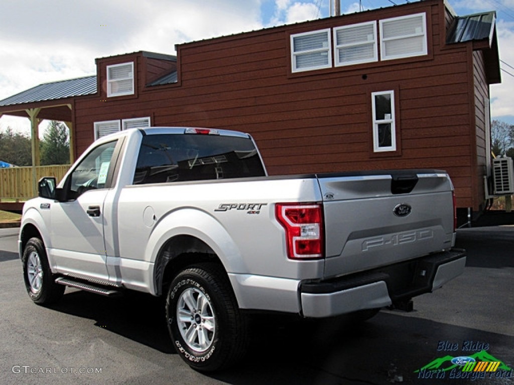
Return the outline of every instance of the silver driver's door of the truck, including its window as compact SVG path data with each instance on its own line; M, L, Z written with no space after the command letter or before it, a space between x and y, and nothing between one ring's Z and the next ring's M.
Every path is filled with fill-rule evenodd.
M59 273L108 282L103 213L117 145L115 140L91 150L66 178L66 200L51 205L49 253Z

